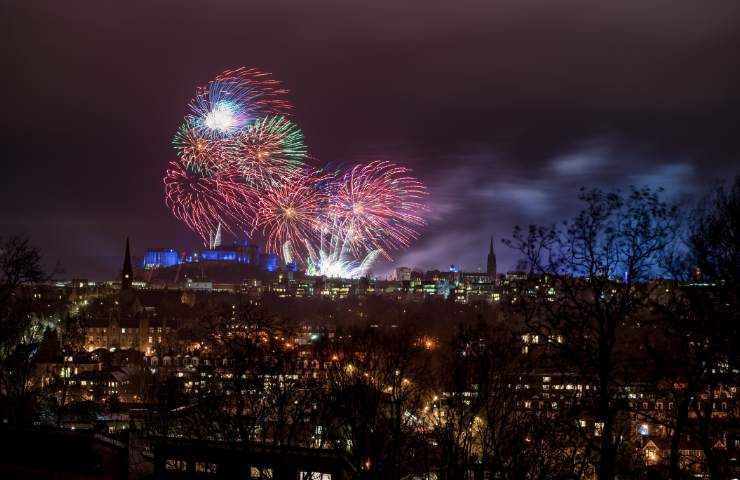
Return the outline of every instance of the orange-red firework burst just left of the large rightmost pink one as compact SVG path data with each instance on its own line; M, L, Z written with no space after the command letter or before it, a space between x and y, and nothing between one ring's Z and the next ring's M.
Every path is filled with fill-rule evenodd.
M260 192L256 228L265 237L267 253L278 253L285 242L302 248L316 240L328 200L319 188L325 177L318 171L304 170ZM302 252L295 253L302 258Z

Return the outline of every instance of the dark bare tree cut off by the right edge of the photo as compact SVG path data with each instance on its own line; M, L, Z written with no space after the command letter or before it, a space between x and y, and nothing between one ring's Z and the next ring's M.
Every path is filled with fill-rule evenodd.
M737 428L738 299L740 297L740 176L720 186L689 215L683 249L669 258L675 288L660 305L665 344L659 355L673 359L664 394L674 408L656 419L672 430L670 470L684 475L680 455L684 437L699 443L703 466L711 478L722 478L714 446L728 428ZM659 346L660 347L660 346ZM680 385L676 388L675 385ZM717 406L729 408L717 410Z

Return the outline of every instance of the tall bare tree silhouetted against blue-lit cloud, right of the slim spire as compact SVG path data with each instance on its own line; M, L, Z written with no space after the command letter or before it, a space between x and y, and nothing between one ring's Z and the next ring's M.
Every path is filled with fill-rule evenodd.
M660 190L628 194L582 190L583 210L560 226L516 228L507 243L520 251L532 276L518 299L527 322L555 342L559 356L592 386L584 396L599 424L594 461L601 480L615 477L631 373L629 336L648 307L663 255L675 234L675 208ZM589 404L590 403L590 404Z

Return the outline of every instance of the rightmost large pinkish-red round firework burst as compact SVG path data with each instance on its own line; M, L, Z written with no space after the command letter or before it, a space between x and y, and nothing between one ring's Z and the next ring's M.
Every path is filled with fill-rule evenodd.
M426 187L411 170L385 161L356 165L335 183L329 215L356 256L407 247L426 222Z

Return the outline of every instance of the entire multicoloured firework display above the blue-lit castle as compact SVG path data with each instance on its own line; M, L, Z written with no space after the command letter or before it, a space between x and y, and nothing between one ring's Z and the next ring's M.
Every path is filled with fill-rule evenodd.
M424 185L389 162L345 173L309 167L303 133L286 118L287 90L255 69L227 70L199 87L173 138L178 161L166 203L213 244L221 229L260 231L266 253L327 276L364 275L425 224Z

